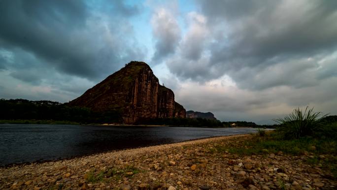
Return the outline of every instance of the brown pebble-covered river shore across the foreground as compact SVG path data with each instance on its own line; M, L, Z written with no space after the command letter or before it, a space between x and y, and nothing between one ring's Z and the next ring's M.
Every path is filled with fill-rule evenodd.
M335 190L336 181L310 155L239 157L218 146L252 138L195 140L69 160L0 168L1 190ZM324 155L322 155L324 156Z

